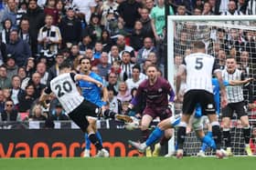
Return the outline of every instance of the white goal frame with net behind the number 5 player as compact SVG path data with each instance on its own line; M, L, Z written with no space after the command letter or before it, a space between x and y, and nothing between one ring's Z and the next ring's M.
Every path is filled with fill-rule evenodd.
M248 73L248 77L256 78L256 15L170 15L167 23L167 69L172 85L175 85L177 66L185 55L191 53L193 42L197 40L207 45L208 54L218 59L222 69L225 58L235 56L240 69ZM255 82L244 87L247 102L251 103L251 93L255 89ZM179 114L180 109L181 105L176 104L175 113ZM256 112L248 113L250 124L256 125ZM242 129L236 116L232 120L230 133L233 153L245 155ZM174 145L175 139L170 140L169 153L174 152ZM187 134L184 148L187 155L197 155L200 145L193 131ZM206 154L213 153L208 150Z

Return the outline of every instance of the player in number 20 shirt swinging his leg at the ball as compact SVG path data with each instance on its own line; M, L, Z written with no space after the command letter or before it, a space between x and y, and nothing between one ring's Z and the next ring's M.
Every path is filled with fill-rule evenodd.
M106 110L101 113L101 108L97 105L92 104L89 101L84 100L83 96L77 89L76 83L80 80L89 81L98 86L102 86L101 82L91 78L88 75L79 75L71 73L71 68L68 63L59 65L59 75L52 79L44 90L43 95L40 96L39 102L41 105L46 104L48 95L51 92L56 95L59 103L63 106L66 113L69 114L71 120L73 120L84 133L88 133L91 143L96 146L98 153L96 156L108 157L109 153L104 149L95 135L95 131L92 125L88 122L86 116L98 117L99 115L115 118L115 113L110 110ZM122 120L132 121L129 116L118 116Z

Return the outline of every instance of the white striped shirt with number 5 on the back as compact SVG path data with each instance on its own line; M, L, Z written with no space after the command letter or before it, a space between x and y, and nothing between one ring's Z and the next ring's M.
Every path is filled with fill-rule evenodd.
M212 73L219 71L219 65L212 55L203 53L187 55L183 65L187 69L186 92L189 90L206 90L213 93Z

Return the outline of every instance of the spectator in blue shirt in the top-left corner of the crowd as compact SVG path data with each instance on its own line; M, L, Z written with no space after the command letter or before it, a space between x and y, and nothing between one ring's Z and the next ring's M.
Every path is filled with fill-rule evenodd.
M12 25L17 27L16 25L16 1L15 0L7 0L7 8L5 8L5 12L3 14L3 20L10 19Z

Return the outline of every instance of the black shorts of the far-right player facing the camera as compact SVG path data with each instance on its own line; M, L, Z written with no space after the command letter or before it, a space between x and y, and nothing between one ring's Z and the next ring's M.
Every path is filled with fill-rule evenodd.
M230 103L222 109L222 117L232 118L234 111L236 111L238 118L240 119L241 116L247 115L245 110L244 102Z

